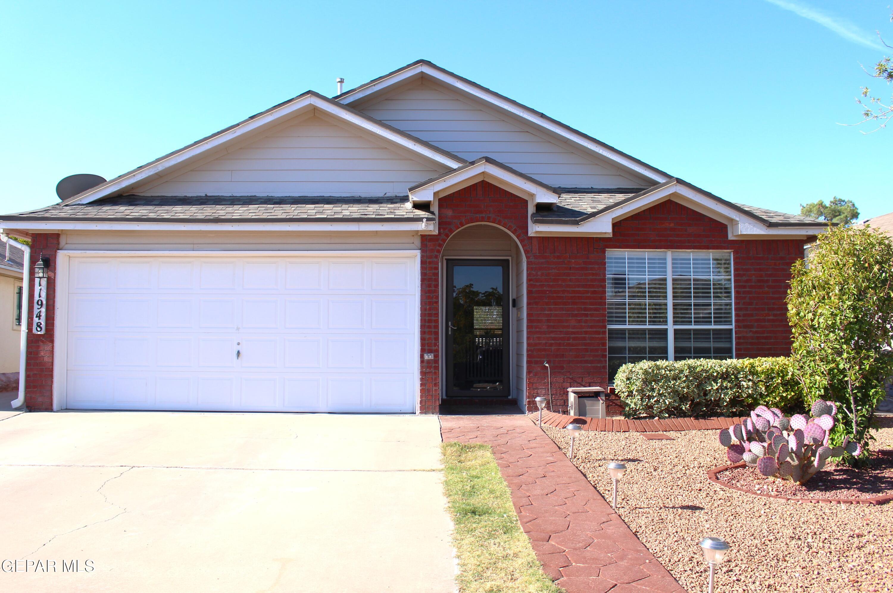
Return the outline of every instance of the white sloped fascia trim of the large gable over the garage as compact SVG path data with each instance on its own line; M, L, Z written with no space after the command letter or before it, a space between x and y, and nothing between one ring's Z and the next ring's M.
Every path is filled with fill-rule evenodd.
M213 151L215 149L221 148L222 145L230 142L230 140L232 140L233 138L238 138L243 134L268 126L272 122L280 121L283 118L287 118L289 116L295 115L296 113L300 113L305 109L311 108L316 108L321 110L322 112L329 113L330 115L333 115L340 120L349 121L350 123L353 123L360 128L366 129L367 131L377 135L380 138L384 138L399 146L405 146L406 148L412 150L414 153L424 156L431 161L447 165L447 167L449 167L450 169L454 169L455 167L458 167L465 163L465 161L451 158L438 152L437 150L433 150L429 146L424 146L419 142L414 142L410 138L405 138L405 136L403 136L402 134L399 134L396 131L388 129L384 126L380 126L374 121L370 121L365 117L354 113L352 110L342 108L336 103L321 99L318 96L306 95L288 104L281 105L280 107L277 107L276 109L273 109L268 113L264 113L263 115L253 120L244 121L235 128L228 129L222 134L218 134L216 136L213 136L212 138L208 138L204 142L196 144L196 146L190 146L186 150L181 150L157 163L152 163L145 169L134 171L133 173L122 177L120 180L113 180L96 188L89 189L87 192L80 195L77 199L73 200L71 204L88 204L102 197L112 196L126 188L137 184L140 181L151 180L154 177L160 176L163 174L163 171L167 171L172 167L178 166L179 164L185 164L190 159L194 159L196 158L196 156L202 155L207 151Z

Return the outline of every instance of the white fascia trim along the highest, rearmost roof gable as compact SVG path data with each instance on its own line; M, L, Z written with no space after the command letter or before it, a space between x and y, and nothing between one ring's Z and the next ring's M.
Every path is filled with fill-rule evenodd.
M458 88L459 90L462 90L464 93L467 93L468 95L475 96L475 97L477 97L483 101L486 101L490 104L495 104L500 109L503 109L509 113L513 113L513 115L516 115L516 116L522 118L522 120L530 121L531 123L534 123L541 128L545 128L561 138L565 138L566 140L568 140L574 144L583 146L583 147L587 148L588 150L591 150L599 155L605 156L605 157L611 159L615 163L620 163L622 166L626 167L627 169L630 169L631 171L636 171L638 174L644 175L645 177L647 177L650 180L655 180L658 183L663 183L663 181L670 179L670 177L668 177L667 175L664 175L663 173L655 171L649 167L642 166L642 164L631 160L627 156L621 155L621 154L617 153L616 151L606 148L605 146L601 146L598 143L593 142L592 140L590 140L584 136L580 136L579 134L574 134L570 130L565 129L562 126L555 124L555 122L553 122L553 121L543 119L543 118L539 117L536 113L532 113L530 110L523 108L519 104L515 104L512 101L507 101L506 99L504 99L500 96L496 96L493 93L489 93L488 91L486 91L482 88L478 88L474 85L471 85L471 84L465 82L462 79L458 79L455 76L450 76L449 74L447 74L444 71L439 71L438 69L431 68L427 64L423 64L423 63L413 66L413 68L408 68L405 71L397 72L396 74L394 74L391 77L388 77L387 79L379 80L375 84L372 84L366 88L363 88L363 89L355 92L354 94L352 94L350 96L346 96L343 99L340 99L340 101L343 102L344 104L354 103L355 101L362 99L364 96L369 96L372 93L380 90L381 88L387 88L387 87L399 84L400 82L404 81L405 79L410 79L413 76L419 74L420 72L422 74L424 74L425 76L430 76L433 79L438 79L441 82L443 82L453 88Z

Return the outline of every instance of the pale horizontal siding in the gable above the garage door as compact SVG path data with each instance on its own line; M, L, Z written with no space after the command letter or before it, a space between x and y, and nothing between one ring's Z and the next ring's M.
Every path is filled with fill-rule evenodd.
M319 114L137 188L143 196L405 196L447 171Z

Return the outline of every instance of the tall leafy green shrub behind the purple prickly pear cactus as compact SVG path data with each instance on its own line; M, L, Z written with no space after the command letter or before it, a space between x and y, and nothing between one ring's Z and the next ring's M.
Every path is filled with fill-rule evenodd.
M819 236L794 264L788 293L791 353L811 401L838 405L832 446L855 440L866 458L874 408L893 372L893 239L871 228ZM857 460L847 455L847 462Z

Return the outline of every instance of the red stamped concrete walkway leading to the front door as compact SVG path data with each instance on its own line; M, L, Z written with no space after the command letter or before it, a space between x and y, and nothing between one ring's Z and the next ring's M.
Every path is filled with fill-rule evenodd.
M685 593L611 505L525 416L441 416L445 441L493 447L522 528L568 593Z

